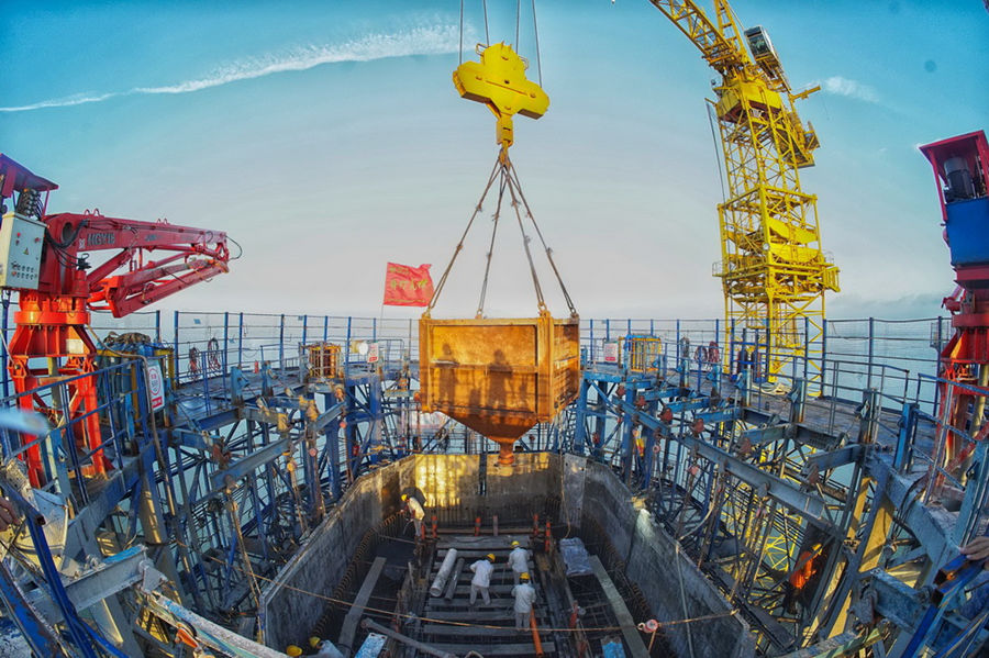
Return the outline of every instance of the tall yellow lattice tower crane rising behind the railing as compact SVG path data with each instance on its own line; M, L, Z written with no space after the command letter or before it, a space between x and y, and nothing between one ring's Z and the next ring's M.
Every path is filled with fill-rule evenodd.
M734 328L737 339L747 328L765 336L770 381L804 356L809 379L820 381L824 291L838 290L838 269L821 249L816 197L800 189L799 169L814 164L819 143L794 108L820 87L793 93L766 31L743 32L727 0L714 0L716 22L693 0L649 1L721 74L709 102L729 187L718 207L721 261L714 266L725 333Z

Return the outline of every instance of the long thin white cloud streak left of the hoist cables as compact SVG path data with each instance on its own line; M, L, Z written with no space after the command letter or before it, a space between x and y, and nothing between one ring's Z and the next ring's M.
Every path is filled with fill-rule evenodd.
M37 101L26 105L0 108L0 112L29 112L45 108L69 108L86 103L99 103L124 96L190 93L241 80L263 78L274 74L309 70L324 64L370 62L373 59L408 57L410 55L444 55L457 52L458 40L459 32L456 25L433 25L390 34L369 34L338 45L310 46L287 55L271 55L236 62L208 77L186 80L176 85L134 87L126 91L110 91L107 93L75 94Z

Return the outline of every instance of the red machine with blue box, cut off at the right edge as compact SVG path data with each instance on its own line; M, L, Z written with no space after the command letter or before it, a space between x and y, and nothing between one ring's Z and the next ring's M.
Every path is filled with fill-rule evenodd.
M989 386L989 145L978 131L921 146L938 181L945 241L955 269L955 291L944 299L954 335L941 352L941 377ZM982 438L986 397L962 388L940 391L940 416L952 427ZM948 433L946 462L960 465L974 446Z

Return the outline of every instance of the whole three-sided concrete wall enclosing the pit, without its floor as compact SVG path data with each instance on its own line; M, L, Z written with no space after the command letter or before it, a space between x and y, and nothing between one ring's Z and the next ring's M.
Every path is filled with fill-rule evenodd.
M481 459L487 459L484 494ZM508 469L497 465L496 455L414 455L360 477L265 589L262 611L269 647L284 649L307 636L326 602L304 592L332 594L364 534L398 511L401 493L411 489L425 499L427 514L443 510L444 517L465 523L481 514L487 524L499 510L540 510L549 499L559 498L563 521L579 526L587 515L601 525L624 558L626 576L638 584L660 622L731 611L714 585L677 550L673 538L633 505L629 489L603 465L536 453L515 455L515 465ZM748 625L737 616L669 626L667 637L680 656L748 658L754 654Z

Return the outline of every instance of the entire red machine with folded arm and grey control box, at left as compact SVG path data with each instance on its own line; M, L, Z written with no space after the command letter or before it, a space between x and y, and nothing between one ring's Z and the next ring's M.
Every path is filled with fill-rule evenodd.
M88 470L100 473L110 465L100 449L96 378L79 377L96 371L89 312L121 317L140 310L227 271L230 252L222 231L105 218L98 210L45 214L48 192L57 188L0 154L0 203L16 193L13 212L0 209L0 287L16 290L20 305L8 368L18 393L70 380L69 400L62 401L67 412L37 394L21 395L19 403L74 427L76 448L91 453ZM93 252L113 253L93 266ZM77 419L84 420L73 423ZM43 484L36 445L26 460L32 484Z

